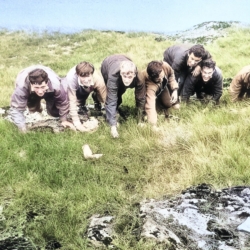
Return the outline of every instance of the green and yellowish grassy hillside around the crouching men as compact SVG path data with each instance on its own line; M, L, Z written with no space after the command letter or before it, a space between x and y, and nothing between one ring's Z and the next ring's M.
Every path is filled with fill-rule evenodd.
M232 30L205 46L224 78L249 64L249 40L250 30ZM124 53L144 69L148 62L162 59L172 44L145 33L2 31L0 107L9 105L15 77L29 65L43 64L64 76L80 61L90 61L99 69L106 56ZM132 90L127 91L123 106L131 108L131 116L120 126L117 140L110 137L106 123L91 134L20 134L0 118L0 241L18 235L37 249L52 241L65 250L93 249L85 232L88 218L100 213L115 216L114 244L119 248L166 249L138 241L134 234L140 227L141 200L174 195L204 182L217 188L250 184L249 102L232 104L225 90L220 107L182 106L174 113L180 120L162 120L159 133L148 126L137 127ZM85 143L104 156L86 161L81 149Z

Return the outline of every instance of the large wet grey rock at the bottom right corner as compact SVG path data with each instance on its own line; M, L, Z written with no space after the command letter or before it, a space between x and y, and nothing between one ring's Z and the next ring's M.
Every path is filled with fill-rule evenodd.
M144 201L140 207L142 236L156 241L173 238L175 249L250 249L249 199L247 186L217 191L201 184L171 200Z

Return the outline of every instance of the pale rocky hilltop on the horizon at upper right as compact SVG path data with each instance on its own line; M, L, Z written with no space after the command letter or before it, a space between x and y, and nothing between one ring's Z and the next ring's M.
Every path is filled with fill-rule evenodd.
M167 35L160 35L155 38L156 41L163 40L174 40L178 42L187 42L187 43L201 43L206 44L214 41L215 39L226 36L229 28L246 28L250 27L249 25L232 21L232 22L204 22L193 26L191 29L173 32Z

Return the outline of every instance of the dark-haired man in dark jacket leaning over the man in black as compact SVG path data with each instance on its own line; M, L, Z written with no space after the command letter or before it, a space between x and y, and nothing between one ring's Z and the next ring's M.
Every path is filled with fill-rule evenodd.
M186 101L186 88L189 88L200 74L202 60L211 58L211 55L202 45L180 44L165 50L163 57L174 70L175 79L179 83L179 96L182 101Z

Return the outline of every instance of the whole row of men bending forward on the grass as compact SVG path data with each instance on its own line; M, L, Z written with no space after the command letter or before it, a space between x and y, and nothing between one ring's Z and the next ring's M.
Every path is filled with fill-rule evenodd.
M63 78L43 65L25 68L17 75L11 97L13 122L26 132L24 111L28 107L29 112L41 112L44 99L49 115L59 117L64 127L84 132L79 114L87 114L86 100L91 93L94 108L105 108L111 135L117 138L117 113L127 88L135 89L140 120L146 114L153 126L159 110L168 118L170 108L179 109L180 102L188 103L194 94L201 101L209 96L218 104L223 91L221 70L199 44L171 46L164 51L163 60L149 62L142 71L129 57L111 55L103 60L100 71L86 61L72 67ZM250 66L233 78L229 92L232 101L250 96Z

